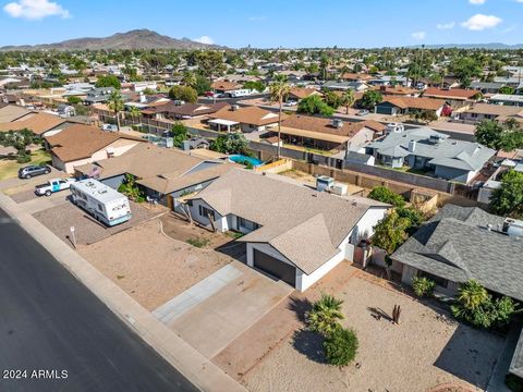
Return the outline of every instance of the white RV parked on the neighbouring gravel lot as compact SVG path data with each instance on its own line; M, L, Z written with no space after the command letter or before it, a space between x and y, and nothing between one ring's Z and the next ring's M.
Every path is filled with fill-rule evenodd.
M126 196L94 179L77 181L71 185L73 203L107 225L115 225L131 219Z

